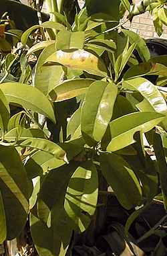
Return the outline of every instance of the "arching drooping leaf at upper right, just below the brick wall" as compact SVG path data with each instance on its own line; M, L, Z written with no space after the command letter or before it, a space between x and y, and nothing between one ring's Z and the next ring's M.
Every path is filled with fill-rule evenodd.
M136 43L136 50L138 50L140 58L143 61L148 61L150 59L150 52L144 39L130 30L122 30L122 32L129 37L131 44Z

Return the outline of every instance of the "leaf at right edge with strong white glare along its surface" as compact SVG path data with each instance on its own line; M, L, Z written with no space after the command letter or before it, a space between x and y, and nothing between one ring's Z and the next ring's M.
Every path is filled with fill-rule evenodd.
M144 97L144 100L136 104L140 111L156 111L167 115L167 105L164 97L153 83L142 77L123 82L124 88L136 90ZM167 129L166 119L162 122Z

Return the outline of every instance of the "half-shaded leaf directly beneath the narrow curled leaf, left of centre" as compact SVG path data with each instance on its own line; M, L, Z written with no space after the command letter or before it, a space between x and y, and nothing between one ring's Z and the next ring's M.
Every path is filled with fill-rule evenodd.
M64 161L56 159L50 153L37 151L25 163L25 169L27 171L27 176L30 179L33 179L38 175L43 175L64 164Z

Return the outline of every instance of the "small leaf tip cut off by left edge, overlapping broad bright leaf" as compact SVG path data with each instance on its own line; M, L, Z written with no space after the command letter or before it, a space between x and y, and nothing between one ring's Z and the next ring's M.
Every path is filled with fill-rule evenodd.
M9 104L3 91L0 89L0 129L7 130L7 124L10 118Z

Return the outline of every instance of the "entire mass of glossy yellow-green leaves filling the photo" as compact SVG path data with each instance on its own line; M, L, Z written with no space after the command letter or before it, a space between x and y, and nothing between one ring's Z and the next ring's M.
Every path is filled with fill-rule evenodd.
M140 207L126 222L126 241L132 222L153 200L167 208L167 58L150 57L144 39L121 26L124 2L108 8L107 1L86 1L72 26L54 13L57 22L35 25L21 36L25 46L40 28L50 40L19 60L5 58L0 243L17 237L30 215L39 255L71 255L73 231L88 230L102 207L98 196L108 193L100 190L101 176L123 208ZM37 58L32 70L30 56ZM11 73L16 62L19 77Z

